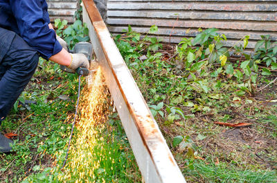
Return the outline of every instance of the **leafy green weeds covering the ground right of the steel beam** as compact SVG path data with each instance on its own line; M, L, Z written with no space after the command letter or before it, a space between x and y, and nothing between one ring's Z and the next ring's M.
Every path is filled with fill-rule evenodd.
M157 31L155 26L152 28L153 31ZM273 74L275 76L275 73L271 71L276 69L274 59L271 60L271 67L269 65L265 67L263 58L251 58L251 55L244 51L247 48L249 35L242 37L240 41L243 44L237 42L227 49L224 47L226 36L217 33L215 28L201 30L194 40L183 38L178 45L156 42L155 44L162 46L157 45L156 48L159 47L159 49L155 50L149 49L154 42L140 39L143 35L134 32L130 26L126 32L115 37L116 45L139 88L143 91L145 101L150 106L159 127L170 146L172 144L173 154L181 170L186 173L190 172L191 177L195 176L195 180L204 180L203 182L220 182L221 180L222 182L251 182L251 180L258 182L264 178L262 173L266 175L265 177L269 175L265 180L274 180L274 166L267 169L253 161L253 157L242 158L243 153L239 150L229 156L228 148L226 148L229 147L228 138L220 139L222 138L220 135L228 128L213 124L214 121L254 123L253 121L259 118L256 115L268 118L268 113L276 114L276 107L269 107L265 104L269 98L274 98L274 93L272 93L274 90L270 90L269 96L262 102L260 97L265 96L259 92L263 88L258 89L262 82L266 81L268 85L272 83L271 80L266 80L265 76L273 76ZM144 35L144 37L147 36ZM257 44L262 46L265 42ZM160 51L164 47L170 47L173 51L171 53ZM239 58L229 55L232 49L235 50L235 54L240 55ZM275 47L267 43L267 50L275 51ZM263 103L264 107L260 103ZM247 116L253 117L251 121ZM270 123L269 121L255 122L253 125L255 130L262 131L257 132L259 134L257 138L264 139L271 144L262 146L268 150L269 155L276 152L276 148L270 147L276 144L273 139L276 137L274 120L270 117ZM255 130L251 133L256 133ZM253 148L253 144L248 139L242 139L242 141L251 147L247 148L249 150L247 153L253 155L253 151L257 148ZM252 141L255 140L252 139ZM260 141L256 142L260 143ZM213 147L213 151L210 151L208 150L209 143L220 145ZM233 144L233 146L239 149L238 144ZM224 175L220 179L209 177L208 172L199 174L198 159L210 157L214 151L218 156L227 157L222 162L224 166L227 166L230 161L237 162L233 165L233 173L238 172L238 175L242 177L234 176L233 179L224 177L228 176L224 168L222 168ZM202 157L199 157L200 155ZM265 156L269 157L269 155ZM242 166L245 162L251 166ZM208 167L208 165L205 166ZM216 167L219 166L211 167L211 169ZM259 169L257 179L254 177L256 169Z

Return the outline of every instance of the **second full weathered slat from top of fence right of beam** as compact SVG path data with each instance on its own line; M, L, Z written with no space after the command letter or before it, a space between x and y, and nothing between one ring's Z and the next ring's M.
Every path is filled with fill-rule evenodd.
M138 10L109 10L108 17L145 17L163 19L217 19L244 21L277 21L277 12L204 12L204 11L138 11Z

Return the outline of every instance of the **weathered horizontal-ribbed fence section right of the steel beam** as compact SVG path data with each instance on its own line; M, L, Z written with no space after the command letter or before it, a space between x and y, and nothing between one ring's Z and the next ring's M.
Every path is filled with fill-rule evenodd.
M253 48L260 35L277 40L276 0L108 0L107 23L111 33L120 33L127 25L147 33L157 25L157 34L165 41L179 42L194 37L198 28L218 28L232 46L250 35Z

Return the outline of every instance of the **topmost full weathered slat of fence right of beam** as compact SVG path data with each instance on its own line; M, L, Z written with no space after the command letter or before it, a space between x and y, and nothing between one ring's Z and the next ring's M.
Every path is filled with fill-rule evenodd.
M277 3L199 3L199 2L114 2L108 1L108 10L213 10L213 11L277 11Z

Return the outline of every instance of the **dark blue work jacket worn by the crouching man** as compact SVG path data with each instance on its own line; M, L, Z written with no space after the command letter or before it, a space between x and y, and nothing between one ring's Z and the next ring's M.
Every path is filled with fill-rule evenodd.
M62 50L50 23L45 0L0 0L0 27L20 35L47 60ZM0 40L1 41L1 40Z

